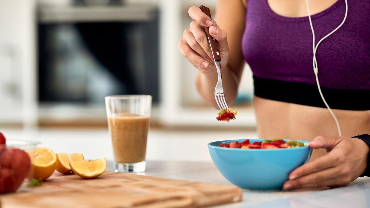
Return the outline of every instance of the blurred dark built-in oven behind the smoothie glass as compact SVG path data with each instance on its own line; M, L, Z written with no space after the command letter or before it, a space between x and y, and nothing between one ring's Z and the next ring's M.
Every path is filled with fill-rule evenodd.
M156 104L158 24L155 5L39 5L40 105L101 106L112 94L149 94Z

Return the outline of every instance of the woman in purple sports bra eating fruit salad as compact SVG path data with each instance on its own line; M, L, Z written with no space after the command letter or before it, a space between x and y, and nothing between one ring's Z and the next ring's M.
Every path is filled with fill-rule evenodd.
M348 1L343 26L316 53L322 92L342 136L316 86L306 1L219 0L214 20L198 7L189 9L194 21L179 50L199 70L196 86L203 100L217 107L217 74L205 26L218 41L228 104L235 101L246 61L253 71L259 137L312 140L312 160L290 173L287 190L340 187L367 174L369 146L365 139L351 137L370 133L370 3ZM347 2L308 2L317 44L342 23Z

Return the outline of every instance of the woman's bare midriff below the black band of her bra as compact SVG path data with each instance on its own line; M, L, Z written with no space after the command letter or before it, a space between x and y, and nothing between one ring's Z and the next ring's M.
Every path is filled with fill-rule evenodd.
M326 108L285 103L256 96L253 104L259 138L311 141L319 135L338 136L336 123ZM370 134L370 111L333 109L333 112L338 118L342 136ZM311 159L323 154L326 154L324 149L313 150Z

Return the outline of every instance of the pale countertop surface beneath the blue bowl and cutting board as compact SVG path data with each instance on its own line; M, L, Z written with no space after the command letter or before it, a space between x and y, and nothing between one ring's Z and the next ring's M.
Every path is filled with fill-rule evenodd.
M108 162L112 171L112 162ZM191 161L148 161L147 170L142 175L174 178L179 180L209 182L231 185L218 172L212 162ZM299 189L295 191L252 191L243 190L243 201L223 207L370 207L370 178L357 178L349 186L342 188Z

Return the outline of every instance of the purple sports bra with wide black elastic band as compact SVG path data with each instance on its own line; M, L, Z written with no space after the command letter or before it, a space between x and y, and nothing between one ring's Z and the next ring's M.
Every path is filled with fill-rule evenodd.
M311 16L316 43L339 26L345 10L344 0L338 0ZM267 0L248 0L242 50L253 71L256 96L325 107L312 68L308 17L280 16ZM370 109L369 0L348 0L346 21L320 43L316 58L320 85L330 107Z

